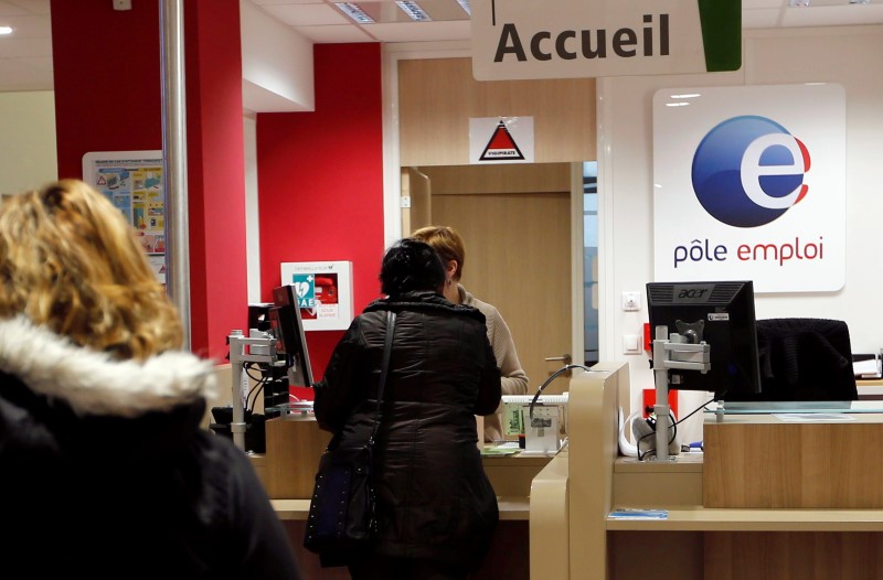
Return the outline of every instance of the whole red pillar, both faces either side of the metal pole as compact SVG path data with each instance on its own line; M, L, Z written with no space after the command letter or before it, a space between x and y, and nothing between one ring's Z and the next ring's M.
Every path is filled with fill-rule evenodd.
M89 151L162 149L160 2L131 4L51 2L60 178L82 178ZM191 348L219 362L247 321L238 7L184 13Z

